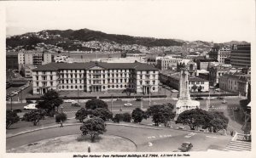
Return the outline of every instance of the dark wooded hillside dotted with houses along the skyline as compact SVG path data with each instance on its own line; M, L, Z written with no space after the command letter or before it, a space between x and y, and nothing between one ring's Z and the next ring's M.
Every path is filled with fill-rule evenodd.
M21 38L22 37L22 38ZM43 38L49 37L49 38ZM110 43L119 43L119 44L137 44L145 47L154 47L154 46L182 46L183 42L177 42L173 39L157 39L151 37L131 37L127 35L114 35L107 34L101 31L91 31L89 29L81 29L77 31L66 30L46 30L39 31L35 33L26 33L20 36L9 37L6 40L7 46L15 48L17 46L25 45L36 45L40 42L48 44L59 44L59 43L68 43L72 44L73 40L79 40L80 42L110 42ZM66 45L66 44L65 44Z

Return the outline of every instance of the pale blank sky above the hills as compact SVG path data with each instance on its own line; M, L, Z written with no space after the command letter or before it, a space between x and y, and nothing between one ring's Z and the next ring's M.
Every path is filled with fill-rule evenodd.
M7 35L88 28L137 37L251 42L253 0L8 3Z

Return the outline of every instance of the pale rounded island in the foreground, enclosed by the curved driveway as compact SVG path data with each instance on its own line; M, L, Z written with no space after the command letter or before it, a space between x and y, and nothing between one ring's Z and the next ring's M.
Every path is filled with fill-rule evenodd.
M94 143L90 137L81 135L67 135L56 138L44 139L32 144L22 145L18 148L7 150L8 153L67 153L67 152L134 152L136 144L126 138L113 135L101 135Z

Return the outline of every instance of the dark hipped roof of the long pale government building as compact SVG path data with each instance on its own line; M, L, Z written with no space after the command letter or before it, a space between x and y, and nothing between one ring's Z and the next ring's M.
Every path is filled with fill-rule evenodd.
M49 63L47 65L39 65L33 71L57 71L57 70L88 70L93 66L100 66L104 69L135 69L137 71L158 71L152 65L143 63L104 63L104 62L88 62L88 63Z

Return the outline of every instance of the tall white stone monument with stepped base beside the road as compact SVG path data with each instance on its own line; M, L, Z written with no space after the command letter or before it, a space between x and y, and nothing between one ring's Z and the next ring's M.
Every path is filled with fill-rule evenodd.
M178 100L176 103L176 115L179 115L184 110L191 110L195 108L200 108L200 102L190 99L189 94L189 71L187 68L183 68L180 72L179 81L179 93Z

